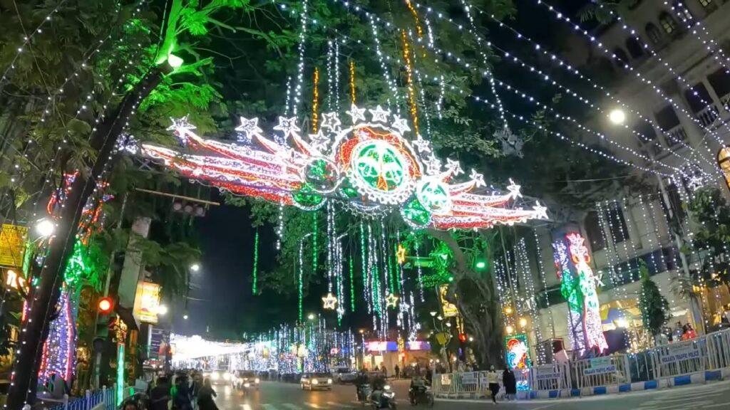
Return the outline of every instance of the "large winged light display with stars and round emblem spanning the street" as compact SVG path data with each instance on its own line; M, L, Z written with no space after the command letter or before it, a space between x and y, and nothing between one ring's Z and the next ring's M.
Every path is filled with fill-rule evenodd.
M547 209L539 203L531 209L508 206L521 197L519 185L512 183L507 193L471 193L485 186L483 175L475 170L469 181L451 182L463 172L457 161L448 160L443 169L428 141L402 136L410 130L403 118L395 115L391 123L391 113L377 107L369 110L371 122L365 122L364 112L353 104L348 111L353 125L347 128L339 128L336 114L324 115L328 121L309 142L299 135L293 118L280 117L274 127L284 134L280 142L291 144L245 128L262 150L203 139L183 118L174 120L175 134L191 150L212 155L190 155L150 144L144 144L142 152L221 190L305 210L320 209L328 198L364 214L399 207L410 225L442 230L547 218ZM325 129L331 135L328 138Z

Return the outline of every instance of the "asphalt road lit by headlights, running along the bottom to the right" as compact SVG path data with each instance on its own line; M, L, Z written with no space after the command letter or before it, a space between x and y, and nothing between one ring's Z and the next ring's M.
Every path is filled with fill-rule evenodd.
M391 383L398 405L410 408L407 382ZM229 386L214 386L220 410L345 410L361 409L355 401L355 387L334 386L331 391L302 391L298 384L262 382L258 391L243 395ZM484 410L485 401L438 400L436 410ZM673 389L631 392L586 398L504 402L496 408L515 410L730 410L730 381Z

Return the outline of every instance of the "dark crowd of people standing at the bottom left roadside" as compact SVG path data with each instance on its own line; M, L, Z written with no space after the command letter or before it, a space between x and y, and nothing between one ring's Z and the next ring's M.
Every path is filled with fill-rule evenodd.
M204 379L200 371L177 371L158 376L142 398L128 399L122 409L218 410L215 397L210 379Z

